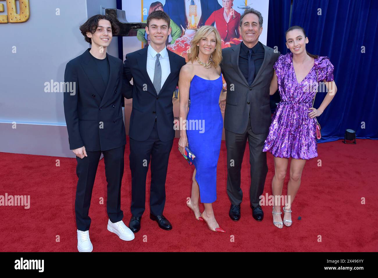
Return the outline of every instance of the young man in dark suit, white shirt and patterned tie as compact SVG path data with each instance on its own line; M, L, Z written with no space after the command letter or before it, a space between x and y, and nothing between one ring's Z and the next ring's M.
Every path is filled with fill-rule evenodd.
M173 92L185 59L167 50L170 18L163 11L147 17L150 45L126 55L122 90L133 98L130 116L132 200L129 227L136 233L146 202L146 176L151 161L150 218L164 230L172 229L163 216L169 153L175 137ZM130 80L133 79L133 85Z

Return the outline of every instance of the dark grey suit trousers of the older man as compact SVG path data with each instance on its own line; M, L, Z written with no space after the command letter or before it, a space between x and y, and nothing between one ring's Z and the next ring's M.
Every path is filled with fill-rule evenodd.
M259 205L259 197L263 193L265 178L268 173L266 152L262 151L266 136L268 136L268 133L253 133L251 129L251 118L249 118L247 128L243 134L225 130L227 149L227 194L233 205L240 205L243 198L243 192L240 188L240 170L242 168L247 138L249 144L249 164L251 166L249 198L253 207Z

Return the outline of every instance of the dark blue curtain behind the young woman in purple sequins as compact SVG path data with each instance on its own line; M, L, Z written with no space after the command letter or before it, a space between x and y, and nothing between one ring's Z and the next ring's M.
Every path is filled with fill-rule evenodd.
M293 25L307 32L307 51L330 57L335 67L338 92L318 117L322 127L320 142L344 138L347 128L356 130L358 138L378 139L378 62L374 54L378 43L378 1L293 0ZM361 53L361 47L365 53ZM316 95L315 108L324 96L325 93ZM361 128L361 122L365 128Z

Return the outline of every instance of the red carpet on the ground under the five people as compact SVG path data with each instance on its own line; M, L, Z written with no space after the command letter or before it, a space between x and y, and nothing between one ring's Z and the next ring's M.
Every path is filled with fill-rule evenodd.
M358 139L356 145L345 145L341 140L318 144L319 157L308 161L302 174L301 188L292 207L293 225L283 229L273 226L271 206L263 207L265 216L262 222L252 217L248 193L248 148L242 166L242 217L238 222L229 219L226 147L223 141L214 211L226 234L210 231L204 222L196 221L186 207L194 168L181 157L177 144L178 139L175 139L169 160L164 209L164 216L172 223L173 229L161 230L156 222L149 219L147 193L141 230L129 242L122 241L106 228L106 181L104 160L100 161L90 208L90 238L94 252L378 251L378 141ZM131 216L129 152L127 144L121 201L126 225ZM60 160L59 167L56 159ZM322 161L321 167L317 166L318 159ZM273 157L269 153L268 167L264 195L271 195L274 175ZM77 252L74 214L76 160L1 153L0 168L0 195L30 195L31 203L29 209L0 207L0 252ZM283 194L286 194L287 181L288 174ZM147 176L147 189L149 183L150 174ZM104 197L104 205L99 204L100 197ZM361 204L362 197L366 199L365 205ZM301 220L297 220L298 216ZM60 242L56 242L57 235ZM318 235L321 235L321 242L318 242Z

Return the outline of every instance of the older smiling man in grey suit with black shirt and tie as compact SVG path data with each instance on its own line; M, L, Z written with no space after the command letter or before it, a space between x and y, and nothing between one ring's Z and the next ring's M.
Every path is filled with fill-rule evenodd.
M268 172L266 152L262 152L271 123L269 87L273 65L280 53L259 42L262 15L246 9L240 17L239 33L243 42L222 50L222 73L227 82L225 135L227 148L227 193L231 201L229 216L240 219L240 169L246 140L249 144L251 186L249 197L253 218L262 221L264 214L259 197Z

